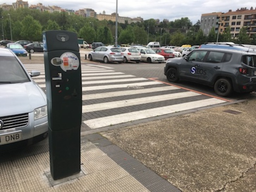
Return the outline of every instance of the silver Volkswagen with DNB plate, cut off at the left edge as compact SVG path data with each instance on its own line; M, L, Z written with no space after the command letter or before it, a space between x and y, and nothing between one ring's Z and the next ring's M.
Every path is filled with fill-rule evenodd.
M0 152L47 136L46 95L31 79L38 75L29 74L11 50L0 48Z

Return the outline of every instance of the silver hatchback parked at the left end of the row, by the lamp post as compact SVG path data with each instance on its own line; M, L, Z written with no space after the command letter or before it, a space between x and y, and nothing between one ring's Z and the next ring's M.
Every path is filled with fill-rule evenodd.
M90 61L104 61L104 63L109 62L123 62L123 52L117 47L97 47L92 50L88 58Z

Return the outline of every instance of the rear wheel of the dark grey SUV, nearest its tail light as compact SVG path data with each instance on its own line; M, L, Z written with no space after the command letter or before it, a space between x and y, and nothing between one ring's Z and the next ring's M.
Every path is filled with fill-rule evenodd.
M221 97L226 97L232 92L232 84L229 80L221 78L214 83L214 91Z

